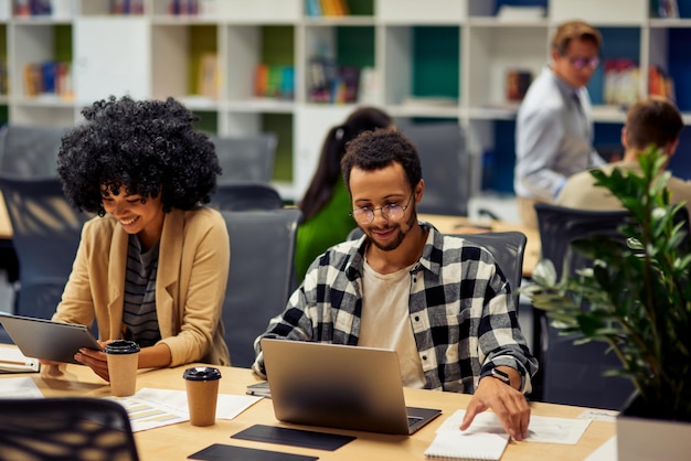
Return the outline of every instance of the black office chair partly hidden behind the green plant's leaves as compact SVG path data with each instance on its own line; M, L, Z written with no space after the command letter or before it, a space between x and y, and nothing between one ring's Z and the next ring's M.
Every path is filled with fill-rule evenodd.
M548 203L534 206L542 258L554 264L560 278L564 271L574 275L577 269L592 265L571 248L574 239L603 235L626 245L618 228L628 218L628 211L586 211ZM682 213L685 214L685 208ZM615 353L608 352L608 346L600 342L574 345L578 335L564 335L550 323L543 311L534 310L535 351L540 361L535 398L554 404L621 409L634 386L629 379L603 375L620 366Z

